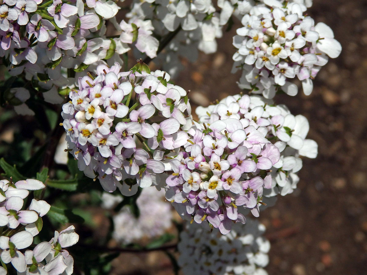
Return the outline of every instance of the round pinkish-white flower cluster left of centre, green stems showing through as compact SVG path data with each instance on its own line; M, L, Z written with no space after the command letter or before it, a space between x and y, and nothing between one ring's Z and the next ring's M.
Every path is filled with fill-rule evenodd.
M79 89L70 92L62 112L68 150L106 191L118 187L134 195L138 186L164 183L163 158L187 143L190 104L186 91L169 80L142 63L129 72L115 63L99 65L96 76L80 77Z

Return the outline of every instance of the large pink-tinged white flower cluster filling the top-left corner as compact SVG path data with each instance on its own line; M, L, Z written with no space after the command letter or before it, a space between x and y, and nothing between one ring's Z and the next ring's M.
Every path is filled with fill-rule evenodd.
M158 40L152 36L152 23L136 19L119 25L115 18L119 10L111 0L4 1L0 6L0 56L11 76L23 74L47 102L61 103L58 92L68 94L79 76L99 64L123 63L120 54L132 46L150 58L156 56ZM120 37L106 36L107 21ZM28 91L19 92L27 95ZM33 114L24 101L11 103L22 104L20 113Z

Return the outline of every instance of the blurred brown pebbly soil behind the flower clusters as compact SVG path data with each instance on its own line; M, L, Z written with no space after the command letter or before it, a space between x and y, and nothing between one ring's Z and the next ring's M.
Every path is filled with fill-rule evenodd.
M343 50L321 69L310 96L276 96L308 118L319 155L303 159L298 189L260 214L272 242L269 275L367 274L366 14L367 1L314 0L309 15L334 30ZM240 92L240 74L228 73L237 26L218 39L217 53L183 60L176 83L191 90L193 107ZM173 274L163 252L123 254L112 273Z

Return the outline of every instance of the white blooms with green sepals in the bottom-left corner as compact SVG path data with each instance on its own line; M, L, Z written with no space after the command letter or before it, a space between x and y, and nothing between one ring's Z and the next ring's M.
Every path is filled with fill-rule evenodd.
M60 233L55 231L54 238L49 242L40 242L33 250L25 250L41 231L41 217L47 214L50 205L46 201L32 199L28 210L22 210L25 208L23 200L28 197L29 190L44 187L41 181L34 179L16 183L0 180L0 227L3 232L0 236L0 258L5 264L11 263L21 275L70 275L74 260L64 248L75 245L79 240L73 225ZM7 274L7 271L0 267L0 274Z

